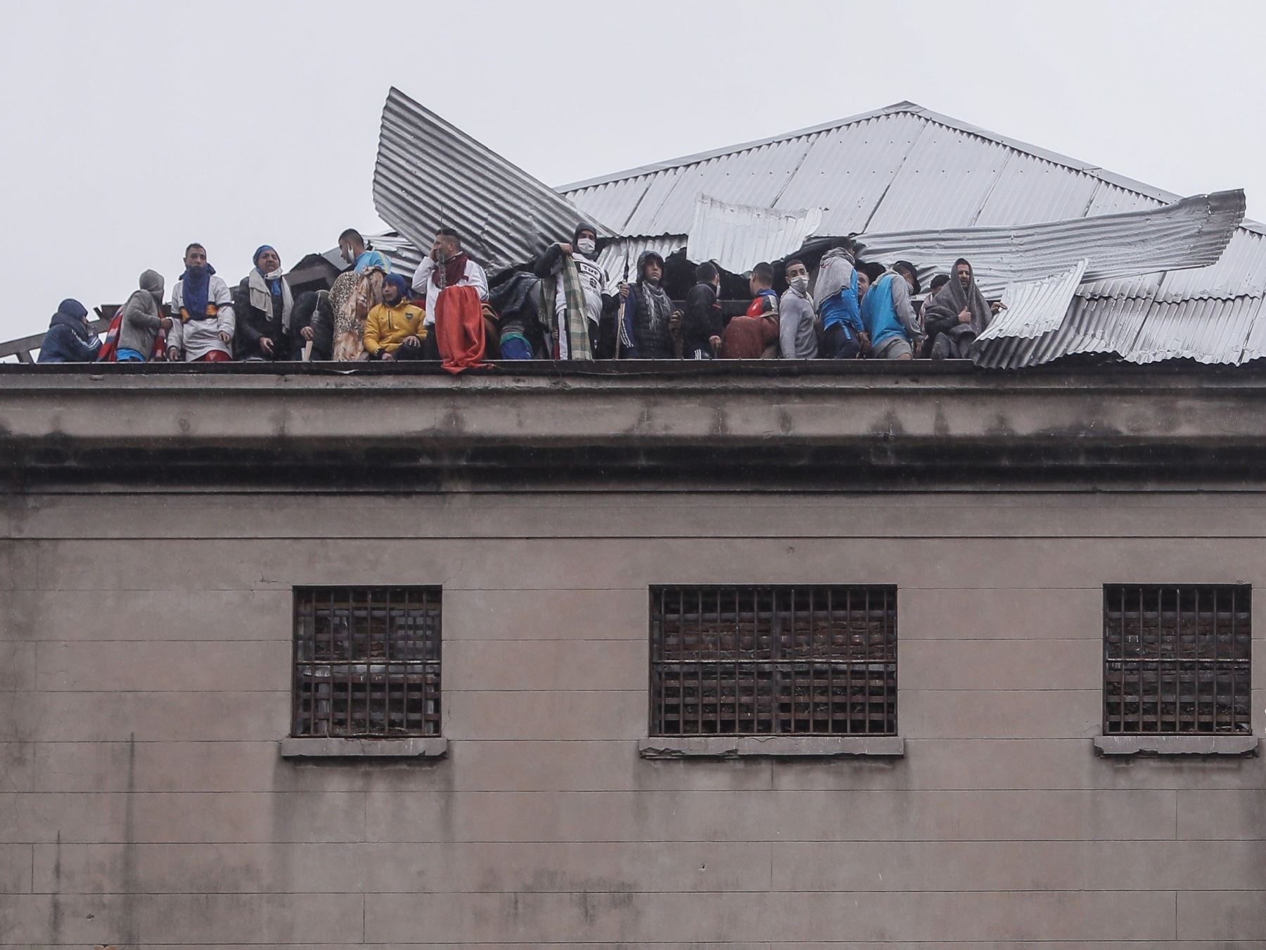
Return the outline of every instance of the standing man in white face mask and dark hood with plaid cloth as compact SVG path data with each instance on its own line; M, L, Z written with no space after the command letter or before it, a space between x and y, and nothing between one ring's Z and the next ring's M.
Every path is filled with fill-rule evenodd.
M580 279L580 289L584 291L584 323L587 326L587 341L580 339L576 320L568 320L567 312L567 280L563 279L563 261L570 257L576 265L576 276ZM572 236L572 243L549 244L546 252L537 258L533 272L548 282L553 279L553 310L551 332L555 338L555 351L560 360L591 358L594 356L606 358L613 356L615 342L615 310L617 298L605 296L603 288L606 286L606 271L598 266L598 231L591 224L577 224ZM572 305L579 303L575 299ZM609 315L606 331L599 339L599 327L603 317ZM576 314L571 314L572 318ZM586 355L587 353L587 355Z

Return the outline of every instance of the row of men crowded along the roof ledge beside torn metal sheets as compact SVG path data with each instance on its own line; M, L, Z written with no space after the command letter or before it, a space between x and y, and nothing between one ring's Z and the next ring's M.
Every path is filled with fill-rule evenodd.
M154 360L186 362L298 360L437 360L460 371L484 360L913 360L967 358L998 313L971 265L955 262L917 301L917 267L857 260L852 242L822 255L815 277L803 260L776 271L757 263L751 303L722 299L722 272L704 262L679 304L665 288L667 263L655 251L637 261L632 282L610 281L598 260L598 232L577 224L532 262L489 286L461 236L441 228L413 280L356 231L339 236L348 265L325 291L295 298L270 244L234 289L215 274L201 244L185 250L185 270L163 304L163 279L147 270L103 343L87 310L65 300L41 348L41 362ZM727 313L729 310L729 313Z

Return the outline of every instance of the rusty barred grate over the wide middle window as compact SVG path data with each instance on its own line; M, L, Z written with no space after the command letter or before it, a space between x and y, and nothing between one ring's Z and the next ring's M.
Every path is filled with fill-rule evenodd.
M651 735L717 733L896 735L896 588L651 588Z

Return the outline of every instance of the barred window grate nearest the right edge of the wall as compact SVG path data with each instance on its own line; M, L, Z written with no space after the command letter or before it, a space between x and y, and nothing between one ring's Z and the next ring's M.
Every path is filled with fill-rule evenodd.
M1104 733L1251 732L1252 588L1104 588Z

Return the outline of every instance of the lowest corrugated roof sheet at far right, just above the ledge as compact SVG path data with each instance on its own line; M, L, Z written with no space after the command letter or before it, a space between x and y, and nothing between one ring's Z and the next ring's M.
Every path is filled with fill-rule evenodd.
M1138 364L1195 360L1236 365L1243 357L1261 309L1260 296L1157 301L1123 356Z

